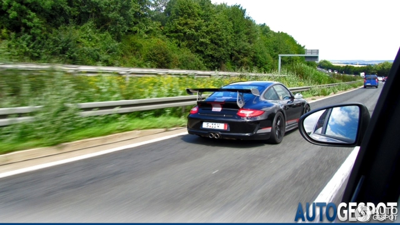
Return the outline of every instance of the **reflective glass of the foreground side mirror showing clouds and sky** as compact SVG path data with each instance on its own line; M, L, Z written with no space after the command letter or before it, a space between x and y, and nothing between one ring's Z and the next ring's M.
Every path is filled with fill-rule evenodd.
M356 141L359 118L358 106L340 106L308 115L303 127L315 141L352 144Z

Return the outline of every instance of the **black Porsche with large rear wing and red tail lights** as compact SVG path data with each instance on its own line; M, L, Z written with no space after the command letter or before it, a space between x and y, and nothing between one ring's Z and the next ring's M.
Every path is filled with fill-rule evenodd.
M186 92L198 96L188 115L188 133L202 137L278 144L310 111L301 94L293 95L279 82L235 82L222 88L187 88ZM202 100L203 92L213 93Z

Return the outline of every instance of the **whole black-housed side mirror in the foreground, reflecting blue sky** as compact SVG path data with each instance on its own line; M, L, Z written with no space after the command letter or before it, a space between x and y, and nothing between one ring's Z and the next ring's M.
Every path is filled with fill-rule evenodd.
M298 122L300 134L314 145L360 146L370 122L368 108L360 103L344 103L312 110Z

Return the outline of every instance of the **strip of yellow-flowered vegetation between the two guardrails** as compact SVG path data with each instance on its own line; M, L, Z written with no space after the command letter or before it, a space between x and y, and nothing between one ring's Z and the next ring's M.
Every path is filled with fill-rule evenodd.
M2 70L0 73L0 108L46 105L50 98L67 98L68 103L99 102L186 95L185 88L218 88L242 80L278 81L288 87L312 86L354 81L357 77L341 74L327 76L305 64L282 70L286 76L243 76L195 78L193 76L130 77L102 74L71 75L60 71ZM57 96L57 97L55 97Z

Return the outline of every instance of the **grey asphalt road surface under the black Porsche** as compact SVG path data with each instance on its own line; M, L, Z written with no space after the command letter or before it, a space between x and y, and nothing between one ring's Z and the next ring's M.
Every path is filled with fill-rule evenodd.
M311 103L361 102L378 89ZM185 135L0 179L1 222L294 222L353 148ZM340 197L337 197L340 199Z

